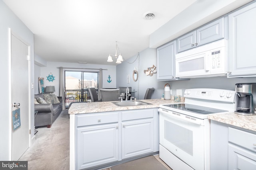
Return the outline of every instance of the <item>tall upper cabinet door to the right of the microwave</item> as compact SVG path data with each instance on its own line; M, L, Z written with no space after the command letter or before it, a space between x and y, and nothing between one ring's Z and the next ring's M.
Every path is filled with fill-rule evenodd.
M256 3L228 16L228 77L256 76Z

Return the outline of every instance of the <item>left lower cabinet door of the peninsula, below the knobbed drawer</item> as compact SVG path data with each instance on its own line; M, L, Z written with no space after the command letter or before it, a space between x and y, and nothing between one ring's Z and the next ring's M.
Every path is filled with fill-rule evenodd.
M118 160L118 124L77 129L77 169Z

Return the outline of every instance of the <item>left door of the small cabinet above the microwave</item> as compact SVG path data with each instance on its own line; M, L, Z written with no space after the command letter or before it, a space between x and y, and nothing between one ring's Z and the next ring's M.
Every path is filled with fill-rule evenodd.
M178 53L196 47L196 31L178 38Z

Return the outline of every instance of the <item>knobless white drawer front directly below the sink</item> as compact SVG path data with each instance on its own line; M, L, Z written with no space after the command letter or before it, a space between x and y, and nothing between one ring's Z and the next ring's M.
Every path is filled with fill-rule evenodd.
M122 121L145 119L150 117L154 117L153 109L122 111Z

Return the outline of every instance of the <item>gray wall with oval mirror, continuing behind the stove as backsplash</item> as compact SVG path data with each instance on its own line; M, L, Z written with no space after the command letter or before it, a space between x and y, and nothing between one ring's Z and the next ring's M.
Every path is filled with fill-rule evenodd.
M128 61L134 61L136 59L135 55ZM117 87L119 86L131 86L132 89L138 91L135 97L138 99L143 99L146 89L154 87L156 90L152 98L161 98L164 93L164 84L170 84L172 90L172 95L176 95L176 89L182 89L182 94L184 90L188 88L220 88L226 90L235 90L236 83L243 82L256 82L256 77L252 78L226 78L226 77L214 77L214 78L193 78L190 80L178 80L178 81L156 81L156 74L153 76L146 76L144 74L144 69L156 66L156 49L148 48L140 53L140 60L129 64L127 62L122 62L116 66L117 71ZM138 69L139 78L137 82L132 80L132 70L134 67ZM156 68L157 69L157 68ZM130 74L130 83L126 83L126 75Z

